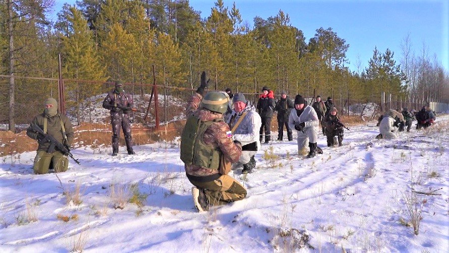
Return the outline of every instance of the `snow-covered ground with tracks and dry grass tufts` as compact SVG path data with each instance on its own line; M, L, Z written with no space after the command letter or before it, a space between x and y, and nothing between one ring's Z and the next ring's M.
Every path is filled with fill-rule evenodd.
M3 157L0 251L447 252L449 116L437 120L397 140L374 139L375 123L350 127L342 147L321 135L324 154L313 159L296 155L296 141L263 145L254 173L234 172L248 197L206 213L193 206L179 141L137 146L135 156L77 148L81 166L71 161L61 183L32 174L35 152ZM418 235L406 226L412 180L434 194L414 194ZM66 204L77 184L80 200ZM127 203L133 192L143 206ZM298 249L298 234L314 249Z

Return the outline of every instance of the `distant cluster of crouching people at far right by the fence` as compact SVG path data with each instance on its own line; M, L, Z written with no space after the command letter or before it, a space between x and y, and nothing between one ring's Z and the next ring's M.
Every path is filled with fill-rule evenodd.
M412 122L417 121L416 129L427 128L431 126L436 120L435 113L427 106L423 106L420 111L416 112L414 109L409 111L408 108L400 110L389 109L384 115L378 119L377 126L379 127L379 134L377 139L395 139L398 137L397 133L405 131L410 132ZM407 127L407 128L406 128Z

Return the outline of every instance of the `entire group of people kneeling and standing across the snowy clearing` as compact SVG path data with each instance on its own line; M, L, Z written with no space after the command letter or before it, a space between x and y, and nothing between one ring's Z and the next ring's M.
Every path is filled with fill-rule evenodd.
M298 154L313 158L322 154L317 146L318 132L327 139L327 146L342 145L344 125L340 122L338 110L331 97L325 102L318 95L310 106L302 95L292 101L286 92L280 94L277 102L274 92L267 86L262 88L257 104L254 106L243 93L233 94L230 88L225 92L209 91L205 72L201 83L190 97L186 109L187 121L181 135L181 160L185 164L187 178L194 185L192 195L195 207L207 211L210 206L225 205L246 197L247 191L237 180L229 176L231 170L242 168L242 173L251 173L256 167L255 155L261 142L271 140L270 124L274 111L277 112L278 136L293 140L293 130L297 132ZM133 99L123 89L122 82L116 82L114 90L107 93L103 108L110 111L113 129L112 156L119 153L120 129L123 129L128 155L134 155L129 113ZM427 107L413 114L407 108L402 113L389 110L379 119L380 138L395 138L396 129L410 131L412 121L418 121L417 129L430 126L435 115ZM54 98L44 102L44 112L37 115L32 124L43 129L44 135L27 129L27 135L38 142L33 170L36 174L68 170L68 154L51 149L47 135L69 148L73 143L74 132L70 120L58 112ZM320 129L321 125L321 129ZM378 136L379 137L379 136ZM69 149L70 150L70 149Z

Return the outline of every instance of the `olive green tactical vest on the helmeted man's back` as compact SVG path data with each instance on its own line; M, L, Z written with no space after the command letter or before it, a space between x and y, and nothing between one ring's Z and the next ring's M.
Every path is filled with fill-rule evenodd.
M218 170L221 150L204 143L203 135L210 125L219 121L223 121L223 119L206 122L196 116L190 116L187 119L181 135L181 160L185 164Z

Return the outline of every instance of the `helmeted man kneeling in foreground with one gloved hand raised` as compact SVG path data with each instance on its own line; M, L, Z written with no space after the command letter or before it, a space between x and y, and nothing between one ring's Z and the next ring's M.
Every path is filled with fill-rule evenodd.
M195 186L192 195L199 212L209 210L209 206L241 200L247 194L246 189L228 175L231 163L238 162L242 154L242 144L233 141L231 130L223 120L229 96L217 91L204 95L205 78L203 72L201 85L189 100L188 118L181 135L181 160L187 178Z

